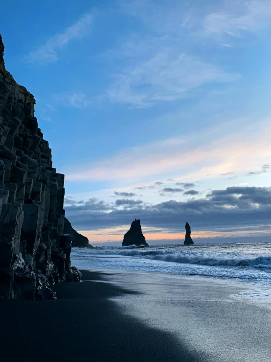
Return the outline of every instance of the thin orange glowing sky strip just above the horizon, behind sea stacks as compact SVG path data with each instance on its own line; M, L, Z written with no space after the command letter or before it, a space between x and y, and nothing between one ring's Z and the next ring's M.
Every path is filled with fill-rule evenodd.
M149 231L143 231L143 234L148 240L184 240L185 232L183 233L167 233L165 230L157 231L155 228L147 228ZM155 229L156 231L152 231ZM117 227L117 228L107 228L99 230L78 230L78 232L86 236L90 242L105 242L105 241L122 241L124 234L127 232L127 226ZM242 237L242 236L251 236L251 235L264 235L271 234L269 230L238 230L238 231L228 231L228 232L216 232L216 231L194 231L192 233L192 238L198 239L208 239L216 237Z

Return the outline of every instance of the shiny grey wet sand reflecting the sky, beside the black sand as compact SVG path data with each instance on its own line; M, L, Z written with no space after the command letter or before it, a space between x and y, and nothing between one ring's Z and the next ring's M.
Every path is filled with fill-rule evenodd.
M261 299L255 303L252 295L262 286L161 272L100 271L106 272L106 282L136 292L111 298L123 313L169 332L203 360L270 361L270 305Z

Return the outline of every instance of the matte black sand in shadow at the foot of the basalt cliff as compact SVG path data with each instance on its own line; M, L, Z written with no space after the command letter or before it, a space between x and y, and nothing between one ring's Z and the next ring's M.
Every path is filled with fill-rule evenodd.
M207 361L171 334L122 314L107 298L135 292L101 279L83 271L83 280L94 281L56 285L57 301L0 298L1 361Z

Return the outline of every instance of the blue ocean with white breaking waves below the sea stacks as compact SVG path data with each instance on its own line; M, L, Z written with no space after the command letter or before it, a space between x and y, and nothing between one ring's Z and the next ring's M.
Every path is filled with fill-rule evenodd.
M83 269L141 270L271 286L271 242L73 248Z

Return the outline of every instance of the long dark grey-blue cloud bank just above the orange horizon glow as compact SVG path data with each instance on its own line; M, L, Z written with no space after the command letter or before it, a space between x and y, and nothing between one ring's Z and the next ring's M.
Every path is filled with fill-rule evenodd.
M125 202L130 201L134 200ZM229 187L212 190L200 199L140 202L131 209L122 206L92 198L84 204L69 204L65 209L73 227L79 230L130 225L135 217L144 226L165 228L168 232L180 232L186 221L192 230L232 231L236 236L238 230L262 230L264 225L271 225L271 188Z

